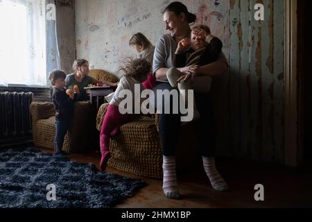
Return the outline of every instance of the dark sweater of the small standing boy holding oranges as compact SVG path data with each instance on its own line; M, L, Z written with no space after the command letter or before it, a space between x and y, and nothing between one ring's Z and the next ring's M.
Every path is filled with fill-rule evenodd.
M55 107L55 120L69 121L73 115L73 100L66 94L66 90L54 88L52 101Z

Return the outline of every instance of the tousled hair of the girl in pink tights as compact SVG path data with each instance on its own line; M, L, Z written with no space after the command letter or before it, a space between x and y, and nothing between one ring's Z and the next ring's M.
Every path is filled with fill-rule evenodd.
M144 58L132 59L128 57L123 63L124 65L119 68L119 71L123 71L125 76L131 76L140 82L146 80L146 76L152 68L150 62Z

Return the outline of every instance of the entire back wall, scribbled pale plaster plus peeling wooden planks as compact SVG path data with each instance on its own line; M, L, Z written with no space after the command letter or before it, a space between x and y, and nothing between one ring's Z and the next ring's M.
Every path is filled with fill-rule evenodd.
M76 49L91 68L116 74L128 40L144 33L155 44L165 33L162 9L171 1L76 0ZM182 1L224 43L227 74L211 89L218 155L284 162L284 1ZM265 21L254 20L263 3Z

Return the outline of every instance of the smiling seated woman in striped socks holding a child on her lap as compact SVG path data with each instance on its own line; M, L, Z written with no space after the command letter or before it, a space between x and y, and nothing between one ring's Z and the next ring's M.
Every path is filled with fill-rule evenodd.
M196 44L202 44L205 40L208 44L200 45L203 48L202 53L205 54L206 49L204 49L204 46L207 47L214 37L209 35L205 28L198 27L193 32L191 31L189 24L196 22L196 15L191 14L187 7L180 2L170 3L165 8L163 14L166 30L171 33L163 35L155 47L153 75L157 82L154 92L157 89L168 89L171 91L175 87L182 89L182 85L176 85L177 82L181 84L188 83L187 89L194 89L196 106L200 113L198 119L194 121L194 130L200 144L203 165L212 187L218 191L226 191L229 187L216 170L214 163L215 129L208 92L211 85L211 77L223 74L227 70L227 60L222 52L218 53L218 56L213 59L214 54L210 49L210 61L202 61L202 57L198 56L196 57L196 62L189 62L189 64L184 62L184 67L171 69L177 67L175 59L178 54L185 50L181 46L188 45L185 39L190 38L191 33L192 39L193 37L195 38L192 45L193 53L198 51ZM178 46L180 46L179 50L177 50ZM165 105L170 105L172 110L172 99L164 101L162 107L164 108ZM175 146L180 133L180 116L180 114L159 114L159 138L164 155L163 191L167 198L180 198L175 172Z

